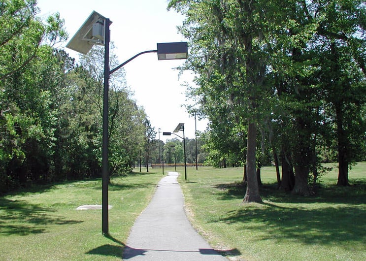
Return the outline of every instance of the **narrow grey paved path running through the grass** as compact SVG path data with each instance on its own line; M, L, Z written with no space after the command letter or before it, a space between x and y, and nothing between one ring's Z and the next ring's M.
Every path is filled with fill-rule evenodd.
M159 182L150 204L133 225L123 260L228 261L192 228L177 176L168 172Z

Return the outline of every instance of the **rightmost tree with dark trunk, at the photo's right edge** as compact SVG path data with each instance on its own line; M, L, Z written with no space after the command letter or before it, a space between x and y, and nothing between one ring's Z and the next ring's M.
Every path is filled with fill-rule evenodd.
M365 133L360 112L366 102L366 6L362 0L333 0L317 5L319 64L329 115L335 123L337 185L348 185L349 164L358 159ZM318 15L319 15L318 14ZM313 14L313 16L315 16ZM314 17L315 18L315 17ZM340 95L341 94L341 95Z

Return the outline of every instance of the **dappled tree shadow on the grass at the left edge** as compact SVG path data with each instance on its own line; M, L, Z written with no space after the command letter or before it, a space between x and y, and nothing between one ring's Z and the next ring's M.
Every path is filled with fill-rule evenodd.
M0 198L0 234L29 235L43 233L47 225L73 225L82 221L55 216L56 211L22 200Z

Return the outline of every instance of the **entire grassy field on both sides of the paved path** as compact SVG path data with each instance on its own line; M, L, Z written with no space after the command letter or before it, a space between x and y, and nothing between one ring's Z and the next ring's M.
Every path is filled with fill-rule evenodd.
M187 213L213 247L232 249L226 255L233 260L366 260L366 163L350 171L352 186L336 187L334 169L311 197L277 191L274 167L264 167L264 204L241 204L242 171L189 167L188 181L179 177ZM153 168L111 180L109 237L101 235L100 210L76 210L100 204L100 179L0 197L0 260L121 260L129 230L162 177Z

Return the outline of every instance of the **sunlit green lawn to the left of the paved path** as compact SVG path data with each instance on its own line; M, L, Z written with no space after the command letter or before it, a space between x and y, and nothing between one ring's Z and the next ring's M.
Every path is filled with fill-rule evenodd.
M111 179L109 237L101 234L101 180L77 181L0 197L0 260L121 260L135 218L149 203L159 170Z

